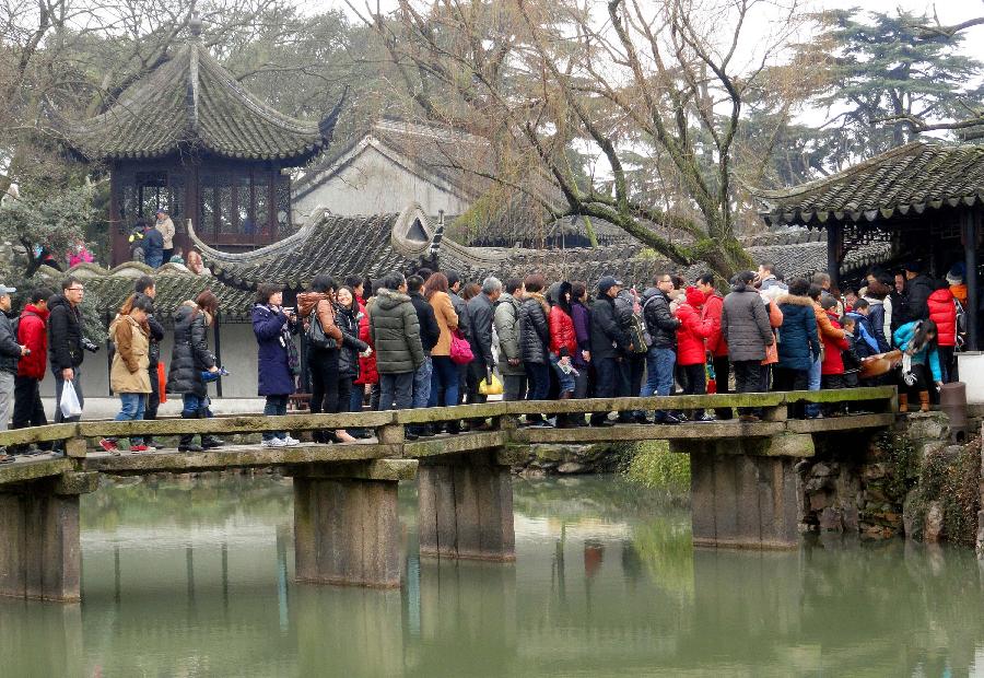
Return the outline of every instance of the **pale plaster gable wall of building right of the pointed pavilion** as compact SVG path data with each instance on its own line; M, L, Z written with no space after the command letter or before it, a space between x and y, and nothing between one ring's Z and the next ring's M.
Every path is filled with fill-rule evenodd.
M419 202L425 214L461 214L469 202L408 172L376 149L367 147L344 170L309 194L294 199L295 223L304 223L317 207L332 214L401 212Z

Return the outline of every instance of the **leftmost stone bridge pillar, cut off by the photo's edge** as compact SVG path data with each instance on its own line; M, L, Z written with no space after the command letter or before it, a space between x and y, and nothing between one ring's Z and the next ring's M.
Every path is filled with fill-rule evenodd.
M79 495L97 474L66 474L0 492L0 595L74 603L81 598Z

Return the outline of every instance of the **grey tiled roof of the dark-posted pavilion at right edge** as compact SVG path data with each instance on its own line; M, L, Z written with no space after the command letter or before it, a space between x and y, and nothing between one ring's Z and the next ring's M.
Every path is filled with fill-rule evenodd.
M984 145L916 141L822 179L760 190L758 199L768 222L803 225L971 206L984 200Z

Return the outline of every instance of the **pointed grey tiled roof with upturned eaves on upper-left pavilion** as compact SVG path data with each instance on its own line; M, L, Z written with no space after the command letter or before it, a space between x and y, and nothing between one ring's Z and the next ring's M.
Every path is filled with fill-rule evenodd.
M341 102L320 122L288 117L247 92L192 40L105 113L56 124L68 144L90 160L180 151L301 164L331 140L340 107Z

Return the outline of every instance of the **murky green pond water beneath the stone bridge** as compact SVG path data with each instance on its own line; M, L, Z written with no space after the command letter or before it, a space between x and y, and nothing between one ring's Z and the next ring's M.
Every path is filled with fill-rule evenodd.
M619 478L516 480L516 563L419 559L399 591L300 585L290 481L127 482L83 498L81 605L0 600L0 677L984 674L969 549L694 550Z

